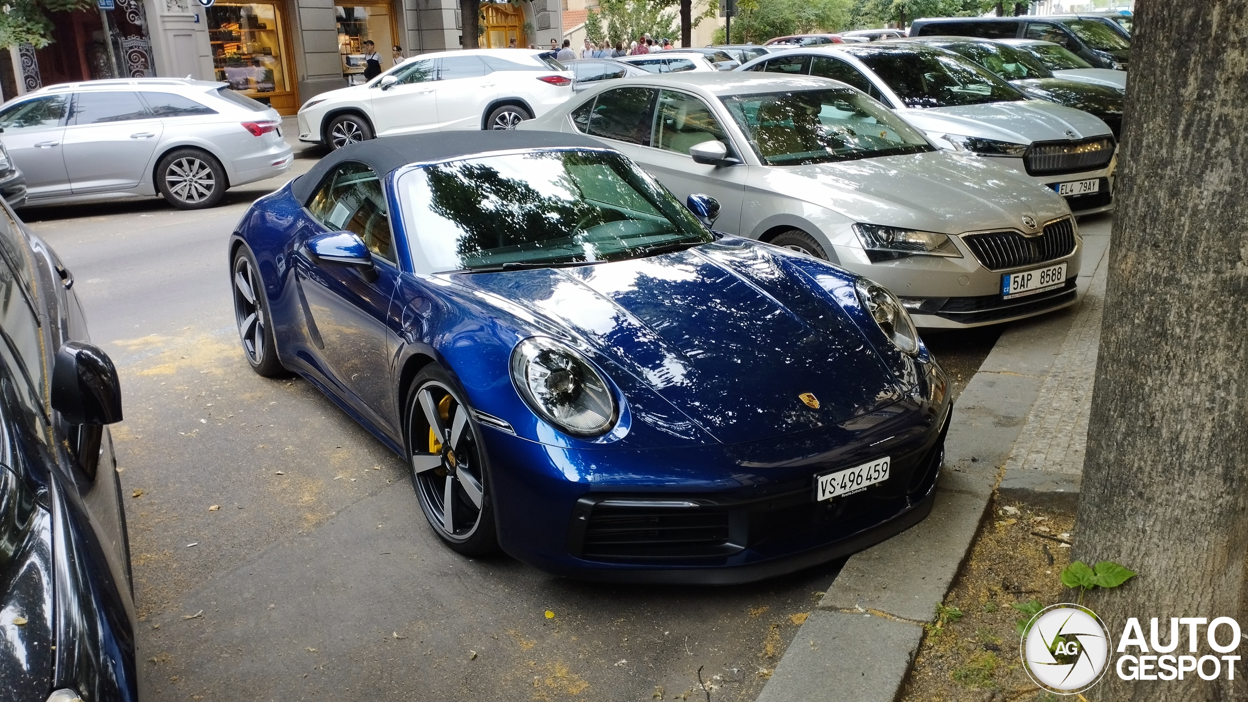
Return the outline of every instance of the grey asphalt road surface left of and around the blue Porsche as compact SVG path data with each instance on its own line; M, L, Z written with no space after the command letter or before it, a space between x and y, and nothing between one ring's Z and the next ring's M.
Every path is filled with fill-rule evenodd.
M753 700L840 564L738 587L615 587L443 547L397 456L307 383L242 358L226 239L278 185L206 212L144 200L21 213L72 271L121 373L112 436L146 698ZM960 390L996 333L932 340Z

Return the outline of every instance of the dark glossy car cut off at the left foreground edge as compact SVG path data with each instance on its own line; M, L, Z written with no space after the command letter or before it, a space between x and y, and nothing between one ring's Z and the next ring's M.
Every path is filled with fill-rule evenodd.
M0 697L134 702L121 395L72 286L0 206Z

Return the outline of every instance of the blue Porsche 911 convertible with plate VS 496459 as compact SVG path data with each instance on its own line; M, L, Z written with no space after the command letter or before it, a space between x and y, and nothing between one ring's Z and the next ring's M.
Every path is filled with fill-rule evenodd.
M461 554L744 582L922 520L951 403L901 304L689 207L575 135L351 145L231 237L242 345L404 456Z

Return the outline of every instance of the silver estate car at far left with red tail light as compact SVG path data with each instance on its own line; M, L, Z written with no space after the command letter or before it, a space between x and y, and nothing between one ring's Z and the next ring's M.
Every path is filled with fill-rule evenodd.
M227 84L177 79L47 86L0 105L26 206L161 195L182 209L285 173L277 111Z

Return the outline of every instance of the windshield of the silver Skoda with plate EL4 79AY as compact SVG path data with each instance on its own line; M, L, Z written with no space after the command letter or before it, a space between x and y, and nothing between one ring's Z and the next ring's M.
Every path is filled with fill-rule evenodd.
M875 71L906 107L955 107L1025 99L1006 81L940 49L871 47L851 54Z

